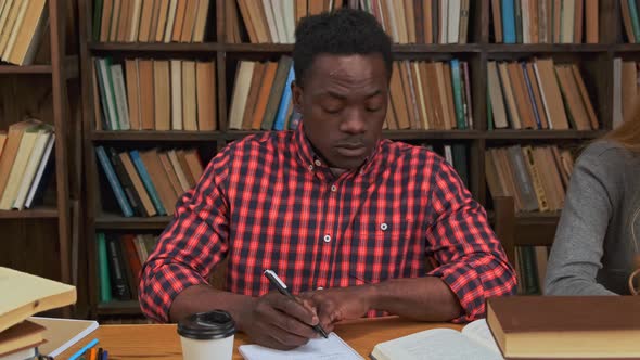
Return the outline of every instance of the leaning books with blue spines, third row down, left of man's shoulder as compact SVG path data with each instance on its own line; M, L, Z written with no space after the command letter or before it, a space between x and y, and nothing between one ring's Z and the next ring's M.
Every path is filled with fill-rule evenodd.
M195 150L117 151L97 146L95 154L111 194L102 192L103 207L110 200L125 217L174 215L178 198L195 187L203 172ZM113 203L113 201L112 201Z

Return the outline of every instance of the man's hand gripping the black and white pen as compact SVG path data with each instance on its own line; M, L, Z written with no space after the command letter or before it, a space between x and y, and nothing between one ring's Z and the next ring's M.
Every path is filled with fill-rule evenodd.
M278 292L252 299L239 320L240 330L252 340L280 350L296 348L319 336L311 327L319 322L313 308Z

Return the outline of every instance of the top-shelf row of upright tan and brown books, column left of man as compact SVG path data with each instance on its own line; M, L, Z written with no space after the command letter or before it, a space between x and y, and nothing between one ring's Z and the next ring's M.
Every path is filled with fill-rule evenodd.
M93 40L203 42L215 0L98 0Z

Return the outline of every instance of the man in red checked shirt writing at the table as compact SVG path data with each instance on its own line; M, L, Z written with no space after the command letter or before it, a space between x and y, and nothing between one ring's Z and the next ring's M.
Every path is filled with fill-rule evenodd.
M455 170L425 149L381 140L391 40L370 14L310 16L293 52L295 131L223 149L144 266L140 300L159 321L225 309L254 342L280 349L345 319L484 316L512 294L513 269ZM425 256L438 266L426 273ZM228 258L227 288L206 280ZM272 269L297 295L269 286Z

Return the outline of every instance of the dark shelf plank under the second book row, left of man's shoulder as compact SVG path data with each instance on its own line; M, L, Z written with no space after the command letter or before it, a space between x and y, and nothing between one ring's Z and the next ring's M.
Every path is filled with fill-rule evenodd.
M223 139L219 131L105 131L99 130L91 133L94 141L216 141Z

